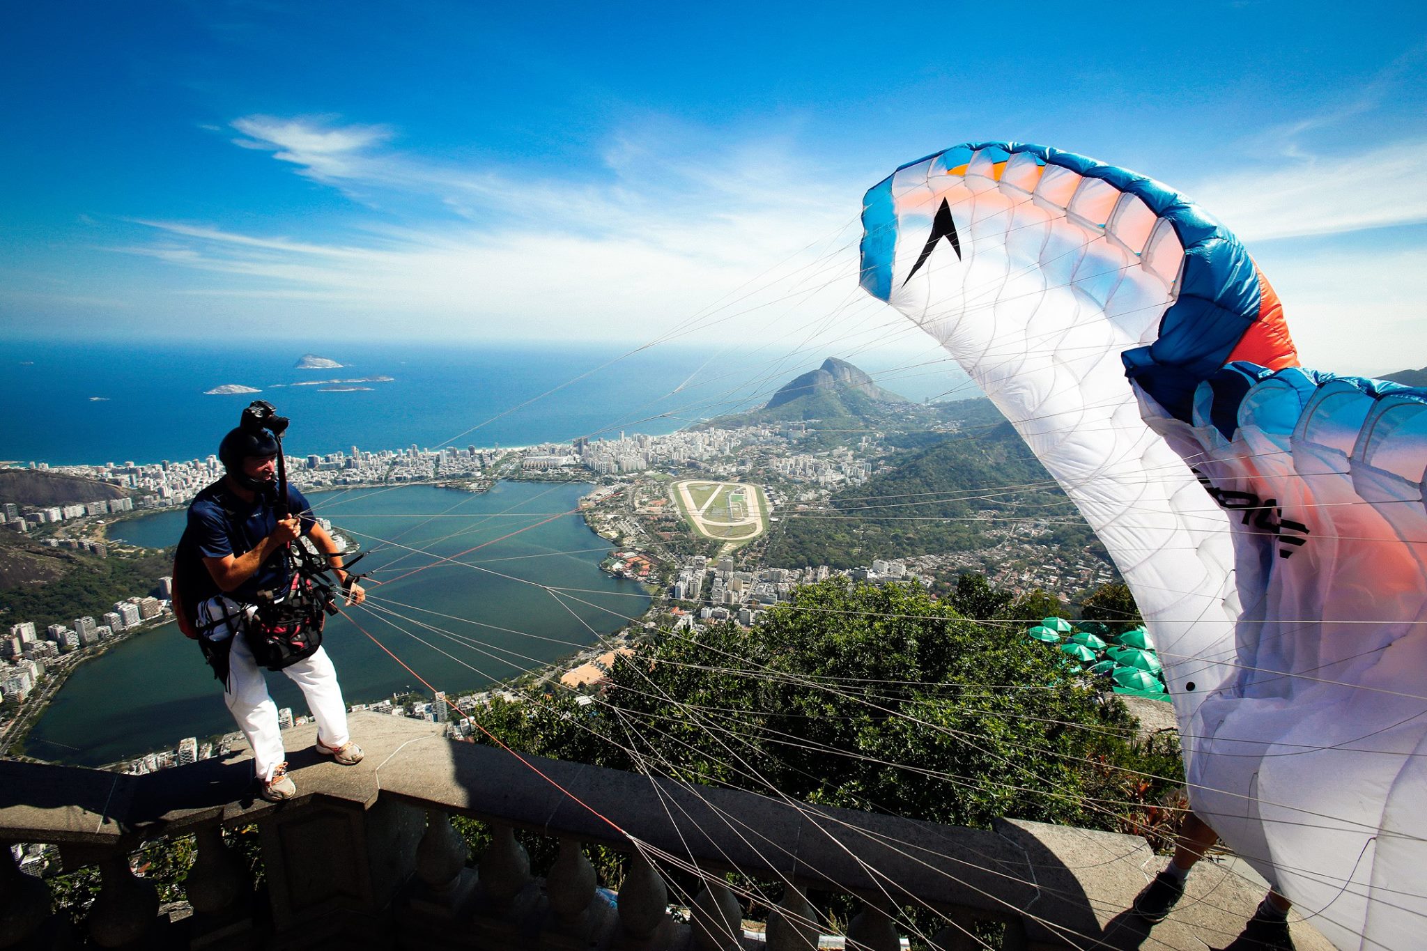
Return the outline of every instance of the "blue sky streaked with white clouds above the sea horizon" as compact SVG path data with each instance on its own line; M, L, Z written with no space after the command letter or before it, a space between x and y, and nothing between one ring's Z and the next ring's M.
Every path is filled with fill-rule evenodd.
M850 334L862 192L1012 138L1200 200L1306 362L1427 364L1421 4L676 6L16 7L0 332Z

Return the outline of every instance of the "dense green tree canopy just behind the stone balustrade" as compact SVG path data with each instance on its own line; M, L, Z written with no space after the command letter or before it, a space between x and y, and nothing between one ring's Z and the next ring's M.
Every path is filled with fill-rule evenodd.
M752 629L641 647L595 704L549 696L482 723L545 756L982 827L1124 828L1127 803L1179 784L1177 756L1139 747L1060 652L918 585L802 587Z

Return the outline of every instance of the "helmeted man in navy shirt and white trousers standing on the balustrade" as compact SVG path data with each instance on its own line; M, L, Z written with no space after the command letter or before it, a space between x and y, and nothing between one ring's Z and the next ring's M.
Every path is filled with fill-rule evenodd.
M280 518L278 452L280 443L267 429L233 429L218 446L227 475L188 506L188 535L213 580L213 587L195 592L201 599L197 615L204 653L214 662L224 682L223 699L253 749L261 796L274 803L297 796L297 784L287 776L277 704L254 659L258 603L265 593L291 589L287 548L301 545L303 536L327 557L348 592L348 603L360 605L367 597L361 585L347 577L335 542L313 518L301 492L288 486L285 512L291 515ZM317 751L342 766L360 763L362 751L347 733L347 704L327 652L318 646L284 666L283 673L301 687L317 720Z

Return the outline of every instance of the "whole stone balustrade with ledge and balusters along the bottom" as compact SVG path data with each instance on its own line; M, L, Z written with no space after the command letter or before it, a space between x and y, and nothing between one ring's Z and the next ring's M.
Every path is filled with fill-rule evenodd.
M855 897L845 941L866 951L896 951L906 937L986 947L972 937L989 934L977 922L999 930L1003 948L1137 948L1146 931L1124 910L1163 861L1110 833L960 828L518 761L398 717L354 714L352 731L367 750L355 767L318 757L313 727L284 734L300 796L283 804L253 797L245 753L148 776L0 763L0 840L56 844L67 870L97 865L101 883L84 927L71 928L6 850L0 948L791 951L829 931L809 894ZM481 855L468 854L454 816L485 824ZM261 845L257 888L223 836L248 826ZM549 843L539 870L521 843L532 833ZM181 836L194 837L191 914L160 914L130 855ZM622 857L622 880L606 883L616 901L598 887L594 850ZM1153 941L1229 944L1260 894L1202 863L1190 900ZM745 921L749 895L766 910L762 931ZM939 931L905 934L906 908L938 913ZM1294 938L1329 948L1304 925Z

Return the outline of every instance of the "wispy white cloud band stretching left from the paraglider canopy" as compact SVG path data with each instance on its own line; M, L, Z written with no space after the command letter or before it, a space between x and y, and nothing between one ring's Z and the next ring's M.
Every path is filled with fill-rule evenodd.
M325 301L430 336L652 338L789 254L836 245L839 228L841 254L782 307L856 287L859 185L819 184L786 143L719 150L645 130L614 137L584 175L542 177L417 157L381 125L250 115L233 128L303 175L380 194L404 221L354 207L342 238L320 241L130 220L153 240L111 250L204 275L184 288L194 297Z

